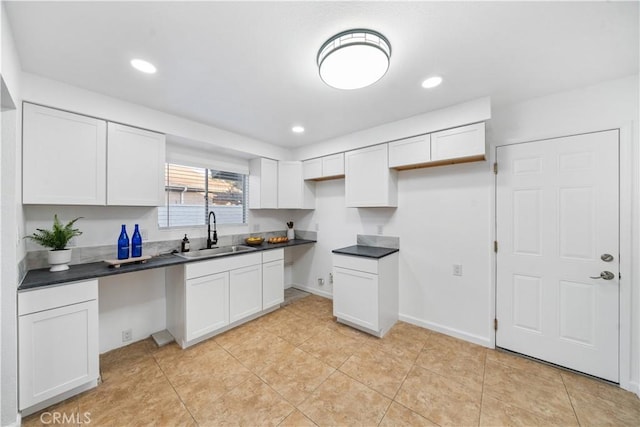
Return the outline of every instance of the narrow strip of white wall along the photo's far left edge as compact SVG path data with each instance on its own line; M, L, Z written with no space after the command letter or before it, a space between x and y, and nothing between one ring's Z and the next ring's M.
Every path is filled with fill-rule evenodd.
M21 102L21 68L11 27L4 10L0 11L1 55L0 73L6 92L2 105L18 105ZM4 108L3 108L4 110ZM18 419L17 396L17 319L16 288L18 286L17 263L24 254L24 245L18 243L18 236L23 231L22 206L19 192L20 186L20 128L21 118L15 110L2 112L2 144L0 154L1 197L0 232L2 240L2 257L0 257L0 425L15 424Z

